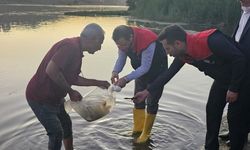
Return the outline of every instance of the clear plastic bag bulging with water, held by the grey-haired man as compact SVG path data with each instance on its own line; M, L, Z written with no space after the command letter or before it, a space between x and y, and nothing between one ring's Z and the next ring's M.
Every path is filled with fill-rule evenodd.
M66 101L65 109L69 111L73 108L85 120L95 121L107 115L114 105L115 94L112 90L97 87L83 96L81 101Z

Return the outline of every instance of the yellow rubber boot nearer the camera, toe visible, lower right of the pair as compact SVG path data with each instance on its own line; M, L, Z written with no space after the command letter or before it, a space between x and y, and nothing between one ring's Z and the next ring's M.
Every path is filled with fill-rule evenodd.
M155 121L155 114L147 114L141 135L135 140L136 144L143 144L149 140L150 132Z

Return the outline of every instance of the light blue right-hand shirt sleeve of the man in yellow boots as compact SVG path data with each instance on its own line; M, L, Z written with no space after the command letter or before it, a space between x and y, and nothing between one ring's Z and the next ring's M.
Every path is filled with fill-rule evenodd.
M126 75L127 82L137 79L149 71L153 61L155 47L156 43L153 42L142 52L141 66Z

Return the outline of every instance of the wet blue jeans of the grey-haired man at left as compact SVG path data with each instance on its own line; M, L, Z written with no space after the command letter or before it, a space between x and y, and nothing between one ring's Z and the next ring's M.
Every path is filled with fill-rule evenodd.
M72 122L64 109L64 101L58 105L49 105L32 100L28 104L49 136L49 150L60 150L62 140L72 138Z

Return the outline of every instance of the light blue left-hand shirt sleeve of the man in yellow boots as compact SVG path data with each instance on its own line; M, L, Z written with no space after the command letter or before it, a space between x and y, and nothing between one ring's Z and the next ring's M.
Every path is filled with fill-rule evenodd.
M127 55L122 50L118 50L118 59L116 60L113 72L120 73L126 64Z

